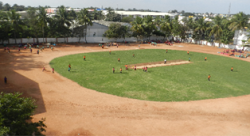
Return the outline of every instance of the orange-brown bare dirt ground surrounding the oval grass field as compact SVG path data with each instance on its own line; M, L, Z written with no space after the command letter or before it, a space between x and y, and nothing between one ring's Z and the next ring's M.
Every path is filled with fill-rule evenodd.
M90 45L90 44L89 44ZM150 102L121 98L81 87L77 83L52 74L49 62L69 54L133 50L130 46L101 47L69 46L45 49L39 55L33 49L0 49L0 91L23 92L37 100L38 108L33 121L46 118L46 135L82 136L249 136L250 95L189 101ZM95 44L97 45L97 44ZM224 49L194 44L151 46L140 44L143 49L175 49L220 55ZM235 57L232 57L235 58ZM209 58L208 58L209 59ZM241 59L241 58L235 58ZM250 59L242 59L250 61ZM42 72L45 66L46 72Z

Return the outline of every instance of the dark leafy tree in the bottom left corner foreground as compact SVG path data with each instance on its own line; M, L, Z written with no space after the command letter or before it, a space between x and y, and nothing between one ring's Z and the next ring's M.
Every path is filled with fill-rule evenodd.
M35 100L20 97L20 93L0 94L0 124L3 135L42 135L45 119L30 122L36 109Z

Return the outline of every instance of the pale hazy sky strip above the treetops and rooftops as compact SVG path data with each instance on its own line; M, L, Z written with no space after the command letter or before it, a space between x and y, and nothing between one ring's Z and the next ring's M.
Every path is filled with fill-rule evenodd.
M231 14L244 12L250 14L250 0L0 0L9 3L24 6L38 7L48 5L58 7L61 5L72 8L86 7L112 7L112 8L136 8L150 9L162 12L169 10L184 10L185 12L195 13L228 13L231 3Z

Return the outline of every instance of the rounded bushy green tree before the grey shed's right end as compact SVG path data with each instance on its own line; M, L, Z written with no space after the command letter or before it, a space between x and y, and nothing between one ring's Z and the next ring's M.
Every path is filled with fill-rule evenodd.
M117 38L122 37L122 25L119 23L111 23L109 26L109 29L104 33L104 37L115 38L117 41Z

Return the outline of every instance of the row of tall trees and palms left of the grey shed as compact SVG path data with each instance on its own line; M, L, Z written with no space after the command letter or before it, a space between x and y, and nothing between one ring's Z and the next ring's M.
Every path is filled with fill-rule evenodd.
M64 6L58 7L56 15L53 16L47 15L45 7L29 8L24 19L15 10L1 11L0 40L3 42L9 38L24 37L84 37L86 28L92 25L93 19L104 19L104 16L100 11L89 14L87 9L78 13L74 10L67 11Z

